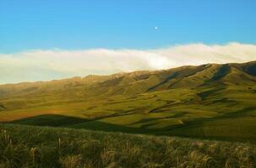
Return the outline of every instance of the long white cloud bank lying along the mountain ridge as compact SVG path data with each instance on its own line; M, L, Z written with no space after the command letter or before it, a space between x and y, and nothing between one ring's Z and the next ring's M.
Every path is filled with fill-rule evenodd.
M256 45L174 45L156 50L27 50L0 54L0 83L256 60Z

